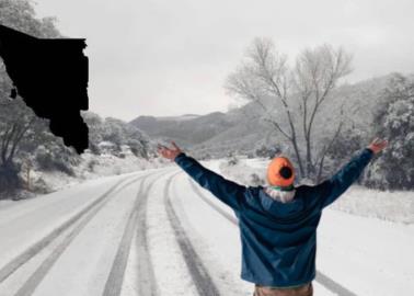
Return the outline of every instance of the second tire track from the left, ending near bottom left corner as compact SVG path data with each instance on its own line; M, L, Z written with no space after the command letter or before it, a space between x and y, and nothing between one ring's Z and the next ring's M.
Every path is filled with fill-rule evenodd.
M114 186L107 194L96 201L93 207L90 207L88 212L84 213L81 217L79 217L76 221L79 224L66 235L64 240L54 249L54 251L42 262L42 264L36 269L36 271L26 280L26 282L19 288L19 291L14 294L14 296L30 296L32 295L37 286L42 283L43 278L53 267L55 262L59 259L59 257L64 253L64 251L69 247L69 244L73 241L73 239L80 234L80 231L88 225L88 223L95 217L95 215L112 200L112 197L116 196L116 193L124 190L125 187L131 185L133 183L140 180L142 177L139 175L138 178L134 178L131 181L123 184L120 187ZM118 182L117 184L119 184ZM74 223L76 223L74 221Z

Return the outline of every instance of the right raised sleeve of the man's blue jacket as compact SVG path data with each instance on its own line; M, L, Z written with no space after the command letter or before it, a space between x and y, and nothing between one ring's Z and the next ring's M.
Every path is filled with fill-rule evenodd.
M336 201L359 178L372 156L372 150L365 148L331 179L315 186L322 208Z

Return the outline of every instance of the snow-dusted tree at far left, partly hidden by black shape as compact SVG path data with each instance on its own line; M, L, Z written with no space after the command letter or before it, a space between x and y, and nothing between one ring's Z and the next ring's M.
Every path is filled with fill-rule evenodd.
M36 37L59 36L54 19L36 19L27 0L0 0L0 20L3 25ZM24 144L30 146L30 135L33 136L36 124L42 122L22 100L10 100L11 89L5 66L0 60L0 193L22 185L15 157L24 151Z

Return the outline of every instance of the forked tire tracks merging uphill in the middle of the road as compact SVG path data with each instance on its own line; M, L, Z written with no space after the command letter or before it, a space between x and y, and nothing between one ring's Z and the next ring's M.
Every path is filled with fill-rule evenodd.
M124 230L123 238L120 240L116 257L114 259L110 276L106 281L103 296L118 296L123 287L125 270L127 266L127 261L129 257L130 247L133 243L134 232L137 235L138 242L138 267L139 267L139 294L138 295L157 295L157 282L153 274L152 264L150 262L148 244L147 244L147 234L146 234L146 206L148 201L148 193L157 181L151 181L147 189L143 190L145 181L153 175L148 174L141 181L139 191L137 193L136 200L134 202L134 207L129 214L127 225ZM163 172L162 174L165 174Z

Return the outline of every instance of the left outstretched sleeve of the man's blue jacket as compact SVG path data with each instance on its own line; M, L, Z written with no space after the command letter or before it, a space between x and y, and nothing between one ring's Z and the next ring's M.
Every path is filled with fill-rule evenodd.
M218 173L203 167L197 160L184 152L177 155L174 162L179 164L194 181L211 192L221 202L233 208L240 209L240 200L246 187L233 181L226 180Z

